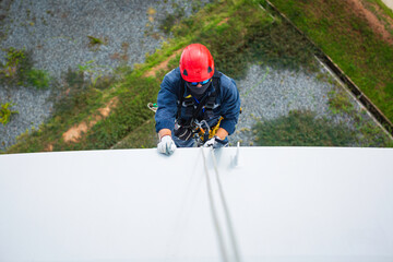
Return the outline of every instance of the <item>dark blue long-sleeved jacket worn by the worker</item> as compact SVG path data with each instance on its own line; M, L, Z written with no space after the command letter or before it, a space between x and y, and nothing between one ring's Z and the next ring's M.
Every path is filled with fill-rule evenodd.
M181 95L181 74L180 69L174 69L167 73L160 84L160 90L157 97L158 109L155 115L156 132L162 129L169 129L174 131L175 120L177 117L178 104L180 103ZM184 86L186 92L183 97L190 95L188 88ZM205 95L214 92L213 84L206 90ZM194 102L195 106L198 100ZM183 108L182 108L183 109ZM217 123L219 117L223 117L219 127L225 129L229 134L235 132L235 126L239 118L240 112L240 96L236 83L233 79L222 74L219 93L216 94L214 117L209 119L207 122L211 127Z

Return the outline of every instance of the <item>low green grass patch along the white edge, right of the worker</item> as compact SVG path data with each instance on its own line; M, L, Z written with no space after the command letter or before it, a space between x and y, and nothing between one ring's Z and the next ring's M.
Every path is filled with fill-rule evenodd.
M252 132L255 144L261 146L393 147L392 140L374 122L361 120L361 117L357 114L356 127L349 128L342 121L296 110L274 120L259 121Z

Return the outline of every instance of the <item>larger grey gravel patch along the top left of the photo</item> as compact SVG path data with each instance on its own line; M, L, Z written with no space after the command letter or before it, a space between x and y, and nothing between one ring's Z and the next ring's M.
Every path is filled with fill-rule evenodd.
M176 2L190 14L188 1ZM165 12L172 12L171 4L156 0L15 0L3 26L9 33L2 46L33 49L36 68L57 78L88 61L108 72L120 66L119 53L126 52L132 66L160 47L164 37L154 34L159 33ZM88 36L105 45L91 47ZM4 57L4 51L0 55Z

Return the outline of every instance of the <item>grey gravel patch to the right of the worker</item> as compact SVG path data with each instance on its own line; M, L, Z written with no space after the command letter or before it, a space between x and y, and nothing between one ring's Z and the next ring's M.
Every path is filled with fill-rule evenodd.
M321 78L321 76L324 78ZM326 81L330 79L330 81ZM237 81L240 93L242 114L239 117L237 131L230 135L230 145L240 142L241 145L253 145L254 134L250 132L257 121L269 121L287 116L291 110L309 110L317 117L325 117L333 122L344 122L354 129L355 120L348 115L333 115L329 109L329 92L333 88L344 88L331 76L321 64L319 72L307 74L305 71L276 70L270 67L253 64L247 76ZM355 110L365 108L347 94ZM362 121L371 121L370 115L365 115Z

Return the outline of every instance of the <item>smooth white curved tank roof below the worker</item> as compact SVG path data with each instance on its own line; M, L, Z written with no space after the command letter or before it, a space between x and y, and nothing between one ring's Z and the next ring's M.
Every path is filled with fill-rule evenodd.
M0 155L0 261L393 261L392 148L212 153Z

